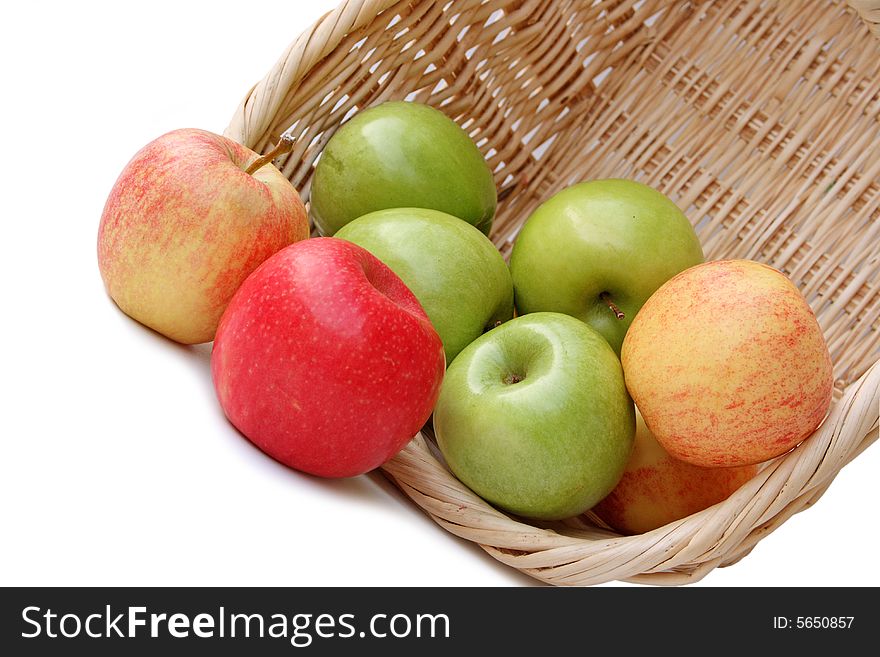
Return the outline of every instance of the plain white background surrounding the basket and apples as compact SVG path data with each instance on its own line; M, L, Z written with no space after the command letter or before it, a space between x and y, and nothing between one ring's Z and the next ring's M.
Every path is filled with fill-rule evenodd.
M209 346L173 344L104 294L95 238L120 169L168 130L222 132L333 5L4 8L0 584L532 583L380 477L322 481L261 454L223 418ZM874 446L699 585L880 584L878 472Z

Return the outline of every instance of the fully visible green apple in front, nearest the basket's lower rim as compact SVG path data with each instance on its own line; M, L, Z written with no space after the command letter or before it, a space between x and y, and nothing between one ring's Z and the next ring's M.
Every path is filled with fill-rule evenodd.
M626 467L635 409L623 369L589 326L560 313L517 317L446 371L434 407L453 473L488 502L567 518L610 493Z

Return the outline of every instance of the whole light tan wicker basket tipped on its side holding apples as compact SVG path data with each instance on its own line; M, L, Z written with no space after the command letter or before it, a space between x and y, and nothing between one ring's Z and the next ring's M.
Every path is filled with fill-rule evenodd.
M835 365L830 416L808 440L725 502L647 534L500 513L423 435L384 466L400 490L450 532L560 585L692 582L813 504L878 436L878 23L880 0L347 0L300 35L226 134L266 152L289 131L295 148L276 163L305 199L353 111L427 102L494 170L492 238L505 255L557 190L636 178L686 211L708 259L785 271Z

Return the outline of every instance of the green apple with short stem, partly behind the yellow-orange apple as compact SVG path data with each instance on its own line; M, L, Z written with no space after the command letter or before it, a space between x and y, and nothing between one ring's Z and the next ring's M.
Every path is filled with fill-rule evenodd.
M568 187L528 218L510 257L516 307L561 312L620 347L657 288L703 262L684 213L657 190L632 180Z

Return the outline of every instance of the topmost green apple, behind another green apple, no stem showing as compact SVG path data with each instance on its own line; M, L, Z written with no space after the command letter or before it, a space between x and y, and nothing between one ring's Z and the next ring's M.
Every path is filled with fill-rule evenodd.
M496 204L492 172L457 123L428 105L387 102L353 116L327 143L310 211L323 235L405 207L446 212L488 235Z

